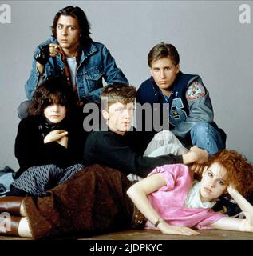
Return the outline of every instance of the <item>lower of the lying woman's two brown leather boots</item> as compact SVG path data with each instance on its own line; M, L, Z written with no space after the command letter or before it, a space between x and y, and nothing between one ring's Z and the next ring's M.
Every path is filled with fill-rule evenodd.
M0 214L0 235L19 236L18 226L22 217Z

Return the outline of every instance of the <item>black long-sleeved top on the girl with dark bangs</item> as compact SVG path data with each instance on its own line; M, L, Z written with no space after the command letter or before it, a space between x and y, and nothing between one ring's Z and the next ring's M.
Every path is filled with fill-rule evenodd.
M65 168L82 162L84 134L80 124L75 120L65 118L57 126L50 125L45 118L29 116L22 119L18 125L18 135L15 141L15 156L20 169L15 178L31 166L56 164ZM51 130L68 131L68 148L57 142L44 143L44 138Z

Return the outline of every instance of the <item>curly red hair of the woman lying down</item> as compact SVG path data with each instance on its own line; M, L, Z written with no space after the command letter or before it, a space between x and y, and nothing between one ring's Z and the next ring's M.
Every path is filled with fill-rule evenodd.
M208 159L205 166L219 163L227 170L227 182L247 196L253 190L253 166L235 150L220 150Z

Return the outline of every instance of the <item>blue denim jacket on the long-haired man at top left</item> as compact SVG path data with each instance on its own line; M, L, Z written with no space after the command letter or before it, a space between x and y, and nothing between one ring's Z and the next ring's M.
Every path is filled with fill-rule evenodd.
M35 58L41 51L42 46L51 42L58 43L56 38L49 38L40 44L34 52L30 78L28 78L25 85L26 97L29 99L33 97L38 83L43 82L51 76L64 74L65 65L60 55L49 58L49 61L45 64L42 77L38 73ZM109 50L99 42L92 42L86 49L83 48L81 50L81 58L77 66L76 81L80 101L100 102L99 96L103 87L102 78L105 79L107 84L115 84L117 82L128 84L128 79L125 78L121 69L117 68Z

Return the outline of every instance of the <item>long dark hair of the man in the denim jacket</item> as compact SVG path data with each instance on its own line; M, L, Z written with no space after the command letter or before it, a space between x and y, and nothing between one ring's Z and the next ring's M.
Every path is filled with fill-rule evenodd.
M86 14L83 10L81 10L78 6L66 6L65 8L59 10L57 14L55 14L53 18L53 25L51 26L52 34L54 38L57 38L56 29L57 22L61 15L71 16L77 19L78 25L80 27L80 44L81 46L89 45L93 42L92 38L90 38L90 24Z

